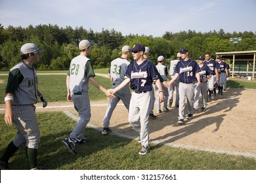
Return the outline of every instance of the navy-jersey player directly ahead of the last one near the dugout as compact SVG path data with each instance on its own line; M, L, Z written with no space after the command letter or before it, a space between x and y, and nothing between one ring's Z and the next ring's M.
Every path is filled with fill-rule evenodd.
M211 78L208 80L207 84L208 84L208 89L209 89L209 97L211 97L211 99L214 99L214 94L213 94L213 90L214 90L214 84L215 82L219 81L219 73L218 73L218 63L213 60L210 59L210 54L205 54L205 64L211 69Z

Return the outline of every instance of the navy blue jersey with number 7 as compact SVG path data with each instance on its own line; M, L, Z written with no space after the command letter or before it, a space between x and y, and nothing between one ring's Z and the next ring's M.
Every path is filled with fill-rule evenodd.
M137 64L137 61L132 61L125 76L131 79L130 87L132 90L147 92L152 90L153 80L158 79L157 73L156 66L146 59L140 65Z

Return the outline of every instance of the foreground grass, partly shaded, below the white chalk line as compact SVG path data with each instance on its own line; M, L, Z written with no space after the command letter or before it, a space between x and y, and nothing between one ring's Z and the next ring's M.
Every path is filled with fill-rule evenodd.
M3 114L0 114L3 119ZM114 135L101 135L100 131L87 128L87 144L76 146L77 155L72 156L62 144L76 122L63 112L39 112L41 144L38 163L49 169L60 170L249 170L256 169L256 159L243 156L229 156L211 152L200 152L151 144L151 152L140 156L140 144L131 139ZM0 154L16 135L14 126L1 125ZM28 169L25 148L11 158L11 169Z

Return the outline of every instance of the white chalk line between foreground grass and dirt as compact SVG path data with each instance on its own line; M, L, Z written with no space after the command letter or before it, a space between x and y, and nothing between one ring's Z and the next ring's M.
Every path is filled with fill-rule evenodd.
M70 111L64 111L64 114L66 114L66 116L72 118L73 120L75 120L77 122L79 120L79 117L75 116ZM93 128L93 129L96 129L98 131L102 131L102 127L98 127L98 126L90 124L90 123L87 124L87 126ZM133 140L137 139L137 137L133 137L131 135L125 135L123 133L118 133L118 132L112 132L112 135L116 135L118 137L124 137L127 139L133 139ZM173 148L184 148L187 150L198 150L198 151L204 151L204 152L215 152L217 154L228 154L228 155L234 155L234 156L245 156L245 157L249 157L249 158L256 158L256 154L252 153L252 152L237 152L237 151L230 151L230 150L212 150L209 148L202 148L202 147L198 147L198 146L187 146L184 144L174 144L174 143L167 143L167 142L160 142L160 141L150 141L150 142L152 142L154 144L158 144L158 145L171 146Z

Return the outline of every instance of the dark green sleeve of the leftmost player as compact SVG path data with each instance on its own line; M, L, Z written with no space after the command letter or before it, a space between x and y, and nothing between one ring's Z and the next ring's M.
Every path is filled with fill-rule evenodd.
M24 76L20 72L20 69L13 69L9 73L7 87L5 88L5 93L12 93L13 95L16 88L22 82L23 79L24 79Z

